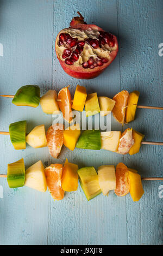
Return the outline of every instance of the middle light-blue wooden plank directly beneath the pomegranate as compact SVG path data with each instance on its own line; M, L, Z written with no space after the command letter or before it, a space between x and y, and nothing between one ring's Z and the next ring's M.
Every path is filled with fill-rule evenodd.
M86 9L83 8L86 6ZM92 8L93 6L93 8ZM87 23L96 23L107 31L117 30L117 5L115 1L54 1L54 41L62 28L68 27L77 11L81 11ZM120 91L119 59L98 78L93 80L77 80L68 76L59 65L53 50L53 87L59 91L63 86L71 85L73 96L77 84L86 86L87 92L99 95L114 96ZM111 128L122 129L112 119ZM95 166L116 164L123 157L106 151L64 150L61 161L65 158L78 163L79 166ZM53 160L54 162L54 160ZM120 214L121 213L121 214ZM104 198L102 195L87 202L81 188L75 193L66 193L62 203L51 199L48 244L61 245L100 245L126 244L126 199L117 198L113 193ZM56 231L57 230L57 231Z

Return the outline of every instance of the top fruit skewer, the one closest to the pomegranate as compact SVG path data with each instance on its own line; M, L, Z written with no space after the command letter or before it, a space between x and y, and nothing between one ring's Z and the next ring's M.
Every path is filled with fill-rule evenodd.
M13 98L12 103L18 106L33 106L36 108L39 103L46 114L59 114L60 110L66 121L71 122L72 109L83 111L85 106L86 116L92 116L100 112L101 116L108 115L111 111L115 119L122 125L135 119L136 109L158 109L159 106L137 105L140 93L134 91L121 91L113 99L108 97L97 97L97 93L86 93L86 88L77 85L74 99L72 100L68 87L60 90L57 96L55 90L49 90L40 99L40 88L36 85L22 86L14 95L1 95L2 97Z

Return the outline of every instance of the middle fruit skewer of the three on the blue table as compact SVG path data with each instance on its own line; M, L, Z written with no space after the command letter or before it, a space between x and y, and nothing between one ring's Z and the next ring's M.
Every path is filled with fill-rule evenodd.
M64 144L71 151L75 147L87 150L109 150L112 152L130 155L138 153L142 144L163 145L163 142L142 141L144 135L133 128L120 131L100 132L99 130L84 130L80 134L79 124L73 124L64 130L63 124L53 124L45 132L44 124L36 126L26 134L26 121L11 123L9 132L0 134L10 135L12 145L16 150L26 148L26 142L34 148L49 148L52 157L57 158Z

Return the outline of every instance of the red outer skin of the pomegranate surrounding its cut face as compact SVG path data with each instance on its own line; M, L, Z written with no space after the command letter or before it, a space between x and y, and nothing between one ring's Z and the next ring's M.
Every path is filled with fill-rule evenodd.
M82 30L87 30L88 28L92 28L92 29L95 29L95 30L98 30L98 31L104 31L102 28L96 26L96 25L89 25L89 24L81 24L81 23L78 23L74 26L72 26L72 28L76 28L76 29L82 29ZM61 31L59 32L59 34L61 33ZM55 52L57 54L57 51L56 51L56 44L57 44L57 41L58 41L58 37L59 37L59 34L57 35L57 39L55 40ZM100 75L110 64L112 61L114 61L115 57L117 56L117 53L118 53L118 41L117 41L117 38L115 35L113 35L113 39L115 41L115 44L117 45L117 49L116 50L113 50L111 53L110 53L110 56L111 56L111 59L104 63L103 66L101 67L98 67L98 68L95 68L95 69L90 69L90 68L87 68L87 69L84 69L82 66L81 67L76 67L76 66L71 66L71 65L67 65L64 61L62 61L58 54L57 54L57 58L59 59L59 63L61 65L61 67L64 69L64 71L72 76L73 78L77 78L77 79L92 79L92 78L96 78L98 75Z

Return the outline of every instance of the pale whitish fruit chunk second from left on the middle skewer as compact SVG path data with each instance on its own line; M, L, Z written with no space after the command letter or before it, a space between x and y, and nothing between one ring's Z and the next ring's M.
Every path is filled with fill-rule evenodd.
M46 147L47 139L45 134L45 126L41 124L40 126L36 126L27 136L26 142L34 147Z

